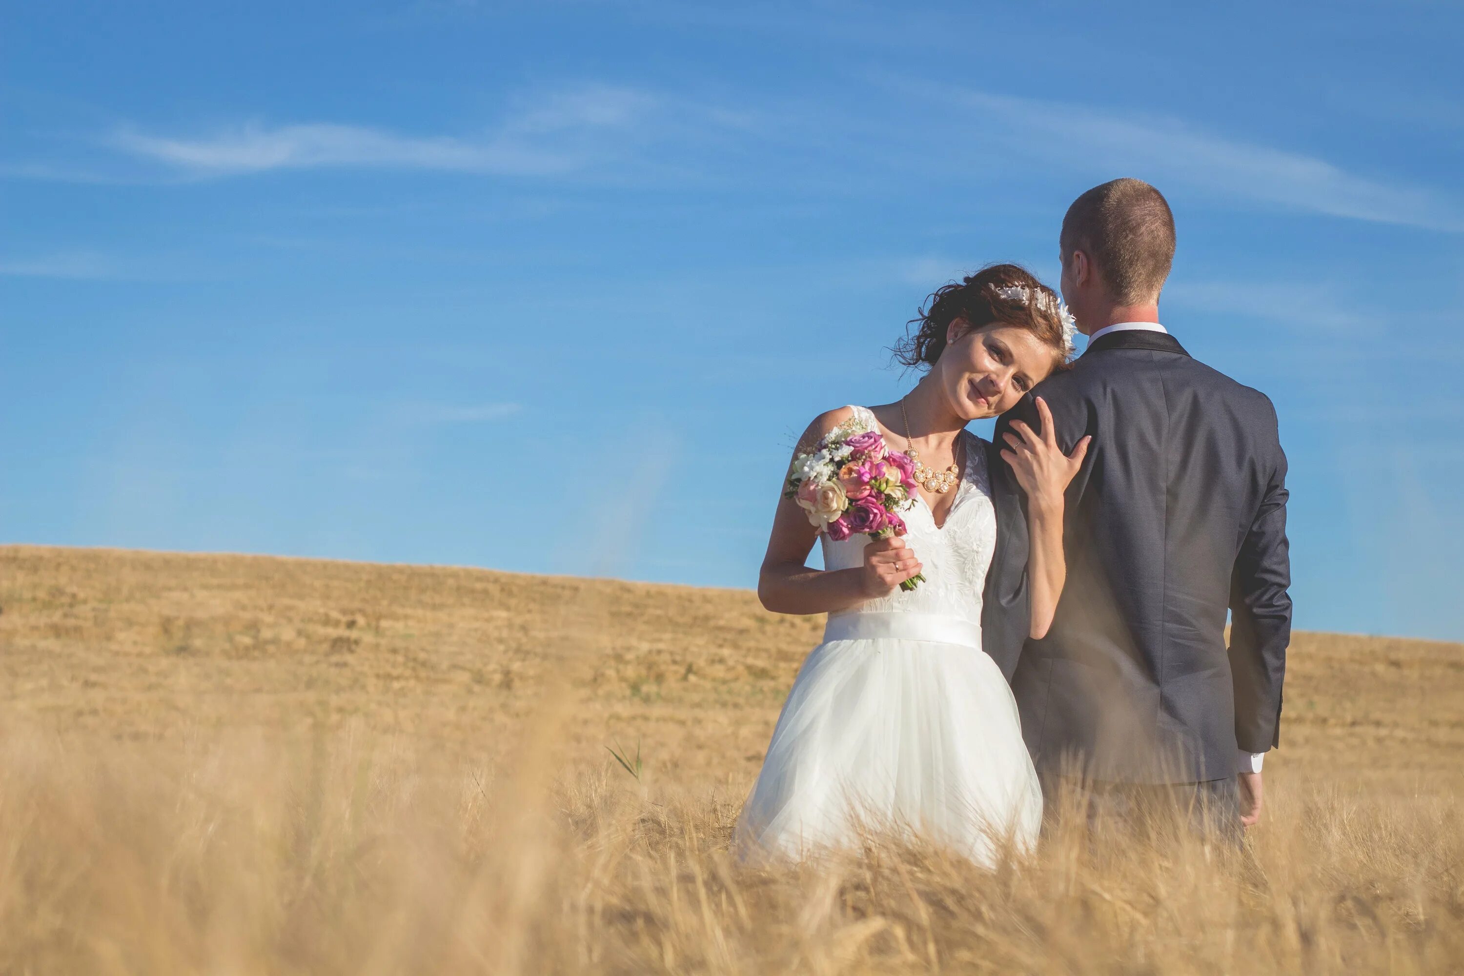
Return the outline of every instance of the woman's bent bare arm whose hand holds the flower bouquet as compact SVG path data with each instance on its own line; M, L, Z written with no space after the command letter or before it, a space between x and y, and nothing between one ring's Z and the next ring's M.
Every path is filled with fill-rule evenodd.
M818 416L799 438L793 457L813 449L820 438L848 417L848 410ZM757 597L764 607L774 613L848 610L892 593L921 569L903 538L871 541L864 549L864 565L854 569L810 569L804 562L817 538L818 533L808 524L804 509L792 499L779 499L767 555L757 577Z

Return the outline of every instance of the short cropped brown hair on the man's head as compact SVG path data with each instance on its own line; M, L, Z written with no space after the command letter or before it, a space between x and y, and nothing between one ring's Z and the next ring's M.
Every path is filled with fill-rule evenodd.
M1121 304L1158 297L1174 263L1174 214L1143 180L1111 180L1088 190L1063 217L1063 263L1075 250L1095 262L1098 277Z

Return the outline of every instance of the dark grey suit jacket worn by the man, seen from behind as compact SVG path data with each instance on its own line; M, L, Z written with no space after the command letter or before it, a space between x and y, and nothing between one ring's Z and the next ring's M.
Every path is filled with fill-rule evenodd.
M996 457L1031 398L997 423L997 552L982 616L1038 770L1101 780L1205 781L1237 746L1277 745L1291 632L1285 455L1262 394L1193 360L1170 335L1111 332L1034 391L1072 451L1067 585L1028 637L1025 499ZM1225 645L1225 613L1233 617Z

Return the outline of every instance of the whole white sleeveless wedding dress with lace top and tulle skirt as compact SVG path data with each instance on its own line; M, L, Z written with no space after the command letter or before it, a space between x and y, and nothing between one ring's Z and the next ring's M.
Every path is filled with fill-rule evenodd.
M960 436L966 467L946 524L924 500L903 512L925 582L830 613L799 669L738 819L742 859L856 847L861 827L916 833L987 865L1007 837L1035 841L1042 793L1016 699L981 650L997 534L984 442ZM821 538L827 569L864 565L868 536Z

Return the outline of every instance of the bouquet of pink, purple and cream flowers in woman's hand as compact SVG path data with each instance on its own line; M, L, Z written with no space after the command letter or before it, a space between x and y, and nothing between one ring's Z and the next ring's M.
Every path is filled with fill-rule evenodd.
M861 430L856 418L839 424L813 454L799 454L788 473L783 498L798 502L810 524L840 541L855 533L871 538L903 536L900 512L915 503L915 464L890 451L874 430ZM925 581L914 575L900 590Z

